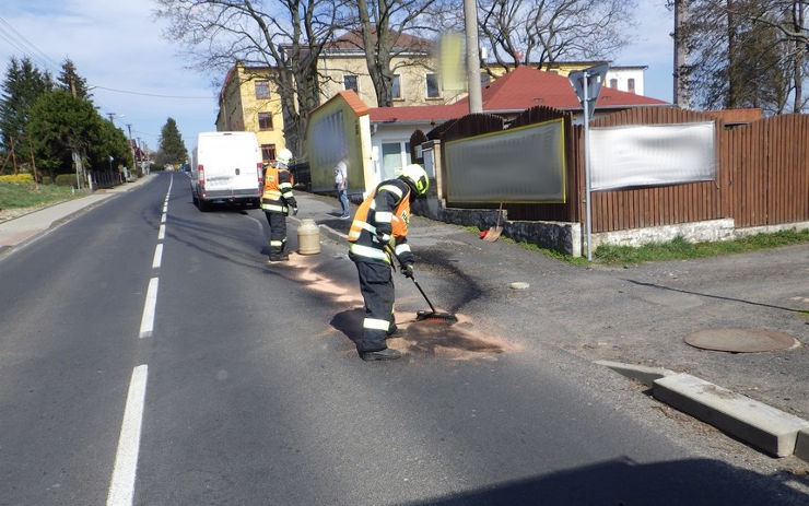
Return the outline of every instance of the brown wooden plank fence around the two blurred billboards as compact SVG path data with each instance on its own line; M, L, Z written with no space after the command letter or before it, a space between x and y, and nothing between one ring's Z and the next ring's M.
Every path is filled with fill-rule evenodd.
M567 113L528 109L512 125L521 126L565 118L567 199L565 203L505 204L509 220L584 223L584 128L572 125ZM724 217L737 227L809 221L809 116L786 115L749 125L726 127L714 116L673 107L641 107L605 116L591 127L668 125L715 121L716 179L681 185L626 188L591 192L593 233L676 225ZM474 127L474 118L445 125L427 137L457 139L490 131ZM488 120L491 122L491 120ZM460 136L466 137L466 136ZM478 207L447 202L447 207Z

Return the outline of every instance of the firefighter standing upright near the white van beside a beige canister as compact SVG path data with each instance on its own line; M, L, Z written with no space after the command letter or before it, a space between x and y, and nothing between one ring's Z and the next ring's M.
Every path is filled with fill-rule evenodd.
M289 260L286 252L286 216L297 214L297 201L292 193L293 177L286 168L292 161L292 152L283 149L278 152L275 162L265 172L265 192L261 209L270 224L270 258L268 262Z

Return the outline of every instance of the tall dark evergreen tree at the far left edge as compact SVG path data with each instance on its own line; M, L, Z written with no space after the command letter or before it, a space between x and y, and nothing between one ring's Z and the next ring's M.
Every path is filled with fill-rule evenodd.
M50 74L40 72L27 57L11 58L0 86L0 140L5 149L25 131L31 107L43 94L54 90Z

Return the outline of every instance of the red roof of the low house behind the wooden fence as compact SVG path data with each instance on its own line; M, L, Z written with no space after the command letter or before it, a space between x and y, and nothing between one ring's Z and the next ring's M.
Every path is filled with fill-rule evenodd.
M520 111L543 105L556 109L581 110L582 106L567 78L520 66L481 90L484 113ZM611 87L601 87L596 108L668 105L667 102ZM407 109L407 110L400 110ZM376 107L372 121L415 121L450 119L469 111L469 98L441 106Z

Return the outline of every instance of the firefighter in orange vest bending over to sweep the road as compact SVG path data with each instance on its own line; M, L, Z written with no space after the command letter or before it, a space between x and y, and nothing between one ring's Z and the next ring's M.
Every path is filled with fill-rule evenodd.
M349 258L356 264L360 292L365 301L362 340L357 348L364 361L399 358L385 339L396 332L394 278L396 255L402 274L413 275L413 254L408 245L410 201L424 196L430 180L418 164L402 168L396 179L380 183L356 210L349 231Z

